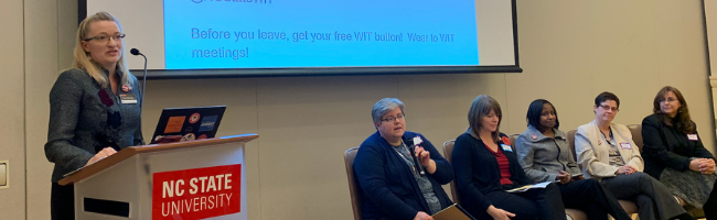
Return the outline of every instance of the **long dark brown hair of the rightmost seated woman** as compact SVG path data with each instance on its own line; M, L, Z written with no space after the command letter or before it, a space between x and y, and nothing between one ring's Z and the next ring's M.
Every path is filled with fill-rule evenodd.
M667 114L663 113L660 109L660 101L665 100L665 95L667 95L670 91L675 94L675 97L677 97L677 100L679 101L679 108L677 109L677 116L675 116L674 124L673 120ZM652 102L652 112L657 114L657 117L660 117L660 120L662 120L663 123L667 124L667 127L673 127L677 131L686 134L695 133L695 124L689 118L687 101L685 101L685 97L683 97L682 92L679 92L679 90L677 90L675 87L665 86L662 87L660 91L657 91L657 96L655 96L655 100Z

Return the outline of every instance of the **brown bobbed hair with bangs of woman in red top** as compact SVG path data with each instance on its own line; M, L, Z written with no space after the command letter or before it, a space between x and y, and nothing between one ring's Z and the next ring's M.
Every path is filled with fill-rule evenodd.
M473 99L473 103L471 103L471 108L468 111L468 123L470 125L469 131L473 135L480 138L479 131L483 127L481 120L483 117L491 113L491 110L493 110L497 116L497 128L495 128L495 131L492 132L493 142L497 143L500 140L500 127L501 121L503 121L503 112L501 111L501 105L499 105L497 101L493 99L493 97L490 97L488 95L480 95Z

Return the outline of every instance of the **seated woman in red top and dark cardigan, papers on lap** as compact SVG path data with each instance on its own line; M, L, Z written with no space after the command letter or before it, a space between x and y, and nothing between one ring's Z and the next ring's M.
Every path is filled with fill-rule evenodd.
M486 95L473 100L470 128L456 139L452 163L462 205L477 219L565 220L555 184L523 193L505 190L531 184L505 134L499 131L501 106Z

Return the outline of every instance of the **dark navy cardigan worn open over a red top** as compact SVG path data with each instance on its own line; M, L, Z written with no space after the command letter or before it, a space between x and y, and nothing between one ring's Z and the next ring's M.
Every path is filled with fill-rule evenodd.
M501 139L506 136L501 133ZM531 184L525 176L523 167L517 162L514 152L499 150L505 154L511 167L511 182L513 188ZM507 143L506 143L507 144ZM510 144L509 144L510 145ZM491 153L483 141L478 140L469 133L463 133L456 139L453 145L453 167L456 169L456 186L461 198L463 208L473 216L482 216L492 202L483 195L491 191L505 191L501 185L501 169L497 160Z

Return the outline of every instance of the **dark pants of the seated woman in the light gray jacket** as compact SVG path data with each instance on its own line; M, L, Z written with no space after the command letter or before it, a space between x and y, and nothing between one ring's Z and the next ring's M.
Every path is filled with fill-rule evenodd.
M585 179L558 184L566 208L582 210L589 220L632 220L612 194L596 179Z

